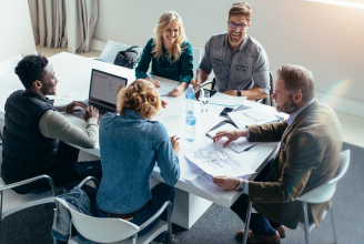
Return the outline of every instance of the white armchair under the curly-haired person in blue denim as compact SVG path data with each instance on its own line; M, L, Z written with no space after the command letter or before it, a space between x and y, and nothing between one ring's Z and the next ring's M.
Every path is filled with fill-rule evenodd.
M82 187L89 180L93 177L89 176L84 179L79 187ZM98 191L98 183L95 190ZM148 244L152 242L159 234L168 232L166 238L169 243L172 243L172 224L171 224L171 202L165 202L163 206L145 223L138 226L129 221L113 217L93 217L74 211L69 206L69 203L62 199L55 197L60 204L67 207L72 215L72 223L75 230L85 238L99 243L114 243L114 244ZM143 235L138 235L140 231L150 225L156 220L164 211L168 211L168 222L159 221L159 223ZM131 238L130 238L131 237ZM79 244L80 240L74 236L68 242L69 244Z

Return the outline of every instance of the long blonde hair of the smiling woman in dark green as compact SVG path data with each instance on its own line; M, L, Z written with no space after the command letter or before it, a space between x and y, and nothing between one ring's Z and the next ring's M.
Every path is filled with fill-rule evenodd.
M154 48L153 48L153 51L152 51L154 58L163 57L163 51L162 51L163 35L162 35L162 32L174 20L179 22L180 28L179 28L179 37L178 37L178 39L175 40L175 42L173 44L172 53L168 53L168 55L166 55L168 60L171 63L173 63L173 62L175 62L176 60L180 59L181 53L183 51L183 49L181 48L182 42L188 39L185 37L182 18L175 11L168 11L168 12L163 13L161 16L160 20L158 21L158 24L154 29L154 41L153 41ZM172 57L174 57L173 60L172 60Z

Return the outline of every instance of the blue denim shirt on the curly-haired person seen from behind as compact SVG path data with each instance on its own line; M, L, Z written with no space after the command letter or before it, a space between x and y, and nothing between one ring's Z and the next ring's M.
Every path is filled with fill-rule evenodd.
M155 161L169 185L180 177L179 156L164 125L125 110L125 115L107 113L100 122L102 179L97 196L100 210L127 214L152 199L150 179Z

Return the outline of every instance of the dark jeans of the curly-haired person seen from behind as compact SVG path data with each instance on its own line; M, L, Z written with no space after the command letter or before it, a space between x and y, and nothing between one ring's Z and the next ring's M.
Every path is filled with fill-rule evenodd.
M166 201L170 201L172 203L172 206L171 206L171 214L172 214L173 205L174 205L174 194L175 194L175 191L174 191L173 186L170 186L164 183L160 183L160 184L155 185L152 189L152 200L146 203L146 207L141 213L136 212L134 218L131 220L130 222L138 226L142 225L144 222L146 222L149 218L151 218L153 216L153 214L155 214ZM98 206L95 207L94 212L95 212L97 217L109 217L108 215L102 213ZM138 234L142 235L142 234L149 232L152 227L154 227L158 224L159 220L166 222L166 216L168 216L168 212L165 210L160 217L158 217L153 223L148 225L145 228L143 228ZM163 242L165 234L166 234L166 232L161 233L153 241L154 242Z

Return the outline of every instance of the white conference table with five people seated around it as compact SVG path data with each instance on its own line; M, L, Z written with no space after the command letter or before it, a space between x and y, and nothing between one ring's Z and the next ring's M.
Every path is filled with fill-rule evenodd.
M50 63L53 63L55 75L59 79L58 90L69 90L79 92L77 95L78 101L83 101L89 96L91 70L98 69L112 74L124 77L128 79L128 84L135 80L134 70L130 70L122 67L91 60L80 55L62 52L49 58ZM176 81L171 81L164 78L156 79L168 89L173 90L176 85ZM0 118L4 118L4 103L7 98L19 89L23 89L20 80L13 73L0 77ZM162 109L160 113L153 118L153 120L161 121L168 129L170 135L176 134L180 140L181 151L185 149L193 149L195 146L205 145L211 143L211 139L205 133L224 120L219 116L220 112L224 109L219 105L209 105L209 111L201 113L200 103L195 102L196 108L196 139L194 142L188 142L185 140L185 96L182 94L179 98L162 96L169 104L166 109ZM265 108L269 111L274 112L275 109L266 105L262 105L255 102L246 101L245 105L252 108ZM55 104L57 105L57 104ZM64 114L64 116L75 126L84 129L87 123L72 114ZM83 152L100 157L100 148L97 145L94 149L83 149L73 145ZM269 160L274 155L277 143L259 143L250 149L251 152L259 152L256 160L253 164L256 166L256 172L260 172ZM80 153L81 154L81 153ZM185 160L182 153L180 155L181 172L189 170L190 163ZM80 156L81 157L81 156ZM79 161L82 159L79 157ZM242 159L243 160L243 159ZM253 180L256 174L250 179ZM155 169L152 173L151 185L155 185L159 182L163 182L160 173ZM172 216L172 222L190 228L199 217L210 207L212 203L220 204L225 207L230 207L241 193L235 191L226 191L221 197L215 199L196 186L188 183L183 179L180 179L175 185L175 205Z

